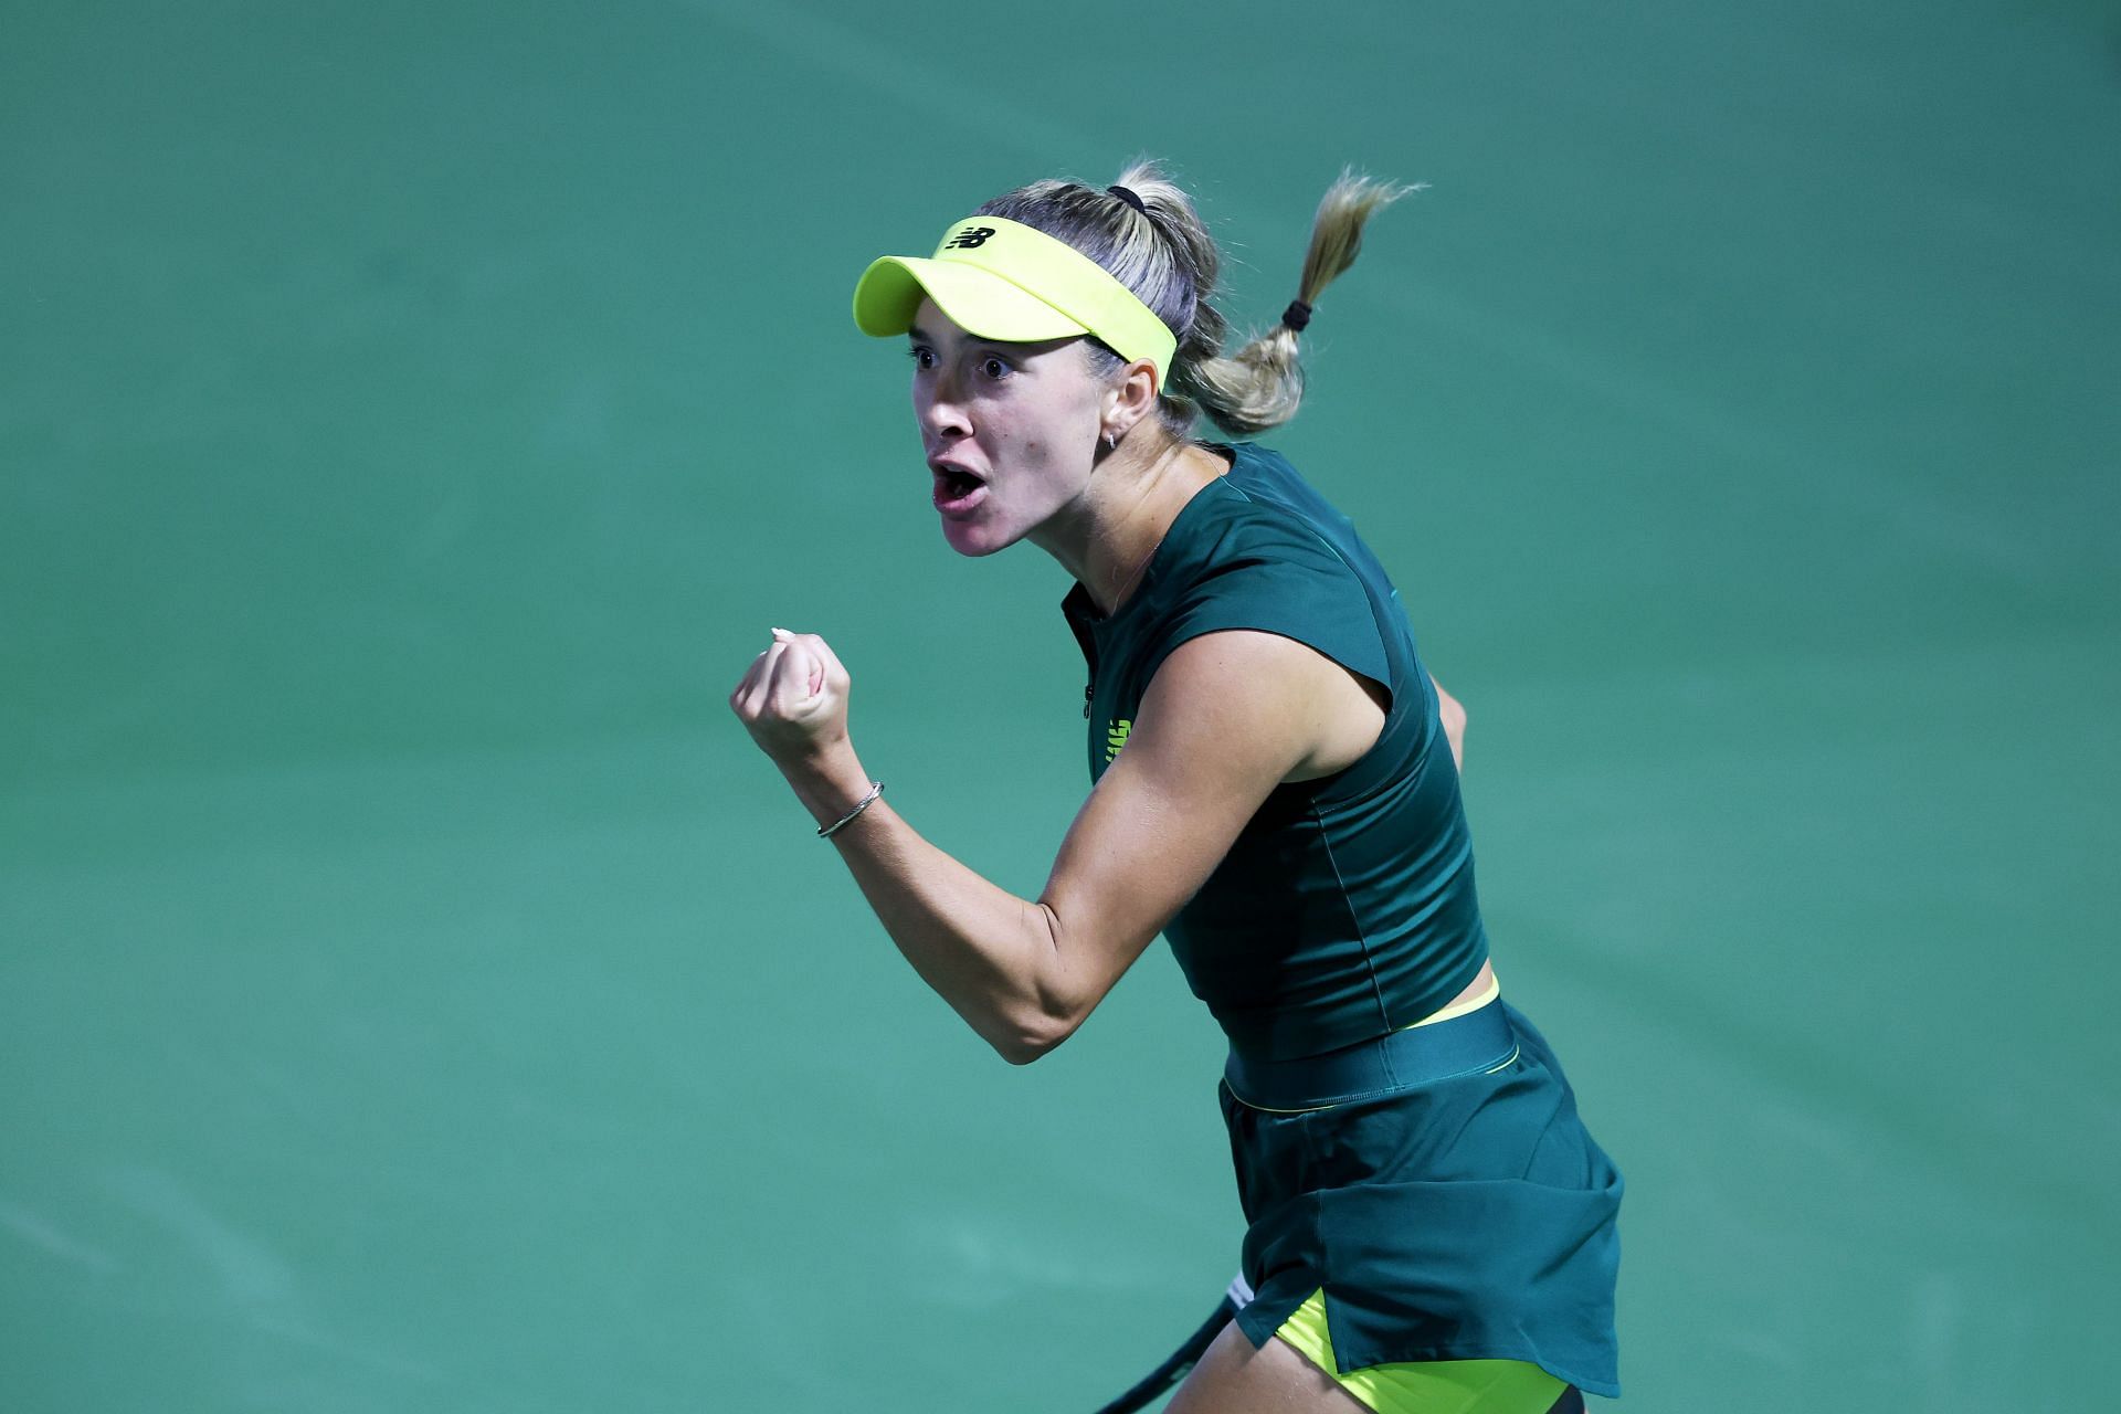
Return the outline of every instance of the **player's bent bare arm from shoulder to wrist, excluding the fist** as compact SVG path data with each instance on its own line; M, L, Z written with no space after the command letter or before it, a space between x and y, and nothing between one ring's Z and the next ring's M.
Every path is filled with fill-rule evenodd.
M914 971L1003 1058L1037 1060L1207 882L1268 793L1309 765L1336 689L1345 670L1273 634L1175 649L1037 899L984 880L882 801L834 844ZM844 740L783 770L819 823L870 780Z

